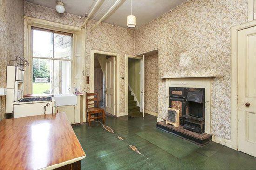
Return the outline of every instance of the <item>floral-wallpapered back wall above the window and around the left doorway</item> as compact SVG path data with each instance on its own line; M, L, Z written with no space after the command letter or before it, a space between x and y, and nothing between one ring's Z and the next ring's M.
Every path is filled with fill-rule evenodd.
M25 15L39 19L59 22L67 25L82 26L85 18L63 13L59 14L54 9L25 2ZM86 70L85 75L90 76L90 50L108 51L120 53L120 112L125 112L125 54L134 55L135 31L100 23L91 31L97 21L89 19L86 25ZM89 92L89 85L86 91Z

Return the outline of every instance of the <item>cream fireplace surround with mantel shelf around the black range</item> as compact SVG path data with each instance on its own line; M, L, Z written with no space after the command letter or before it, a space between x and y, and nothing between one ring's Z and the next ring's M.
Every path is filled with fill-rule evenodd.
M205 132L211 134L211 78L201 77L166 77L166 109L169 107L169 87L205 88Z

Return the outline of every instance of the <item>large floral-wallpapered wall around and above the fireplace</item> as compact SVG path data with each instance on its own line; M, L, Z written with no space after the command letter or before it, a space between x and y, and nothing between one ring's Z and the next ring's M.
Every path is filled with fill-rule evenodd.
M135 53L159 49L159 77L216 75L211 131L230 139L230 27L246 22L246 0L189 0L135 32ZM158 113L165 117L165 81Z

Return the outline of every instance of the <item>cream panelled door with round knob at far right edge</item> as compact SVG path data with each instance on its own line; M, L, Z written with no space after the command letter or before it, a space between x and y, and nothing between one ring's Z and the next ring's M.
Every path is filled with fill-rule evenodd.
M238 150L256 157L256 26L238 31Z

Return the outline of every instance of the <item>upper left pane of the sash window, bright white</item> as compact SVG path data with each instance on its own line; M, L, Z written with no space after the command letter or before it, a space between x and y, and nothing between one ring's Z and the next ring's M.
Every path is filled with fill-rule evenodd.
M53 33L33 29L33 56L53 57Z

